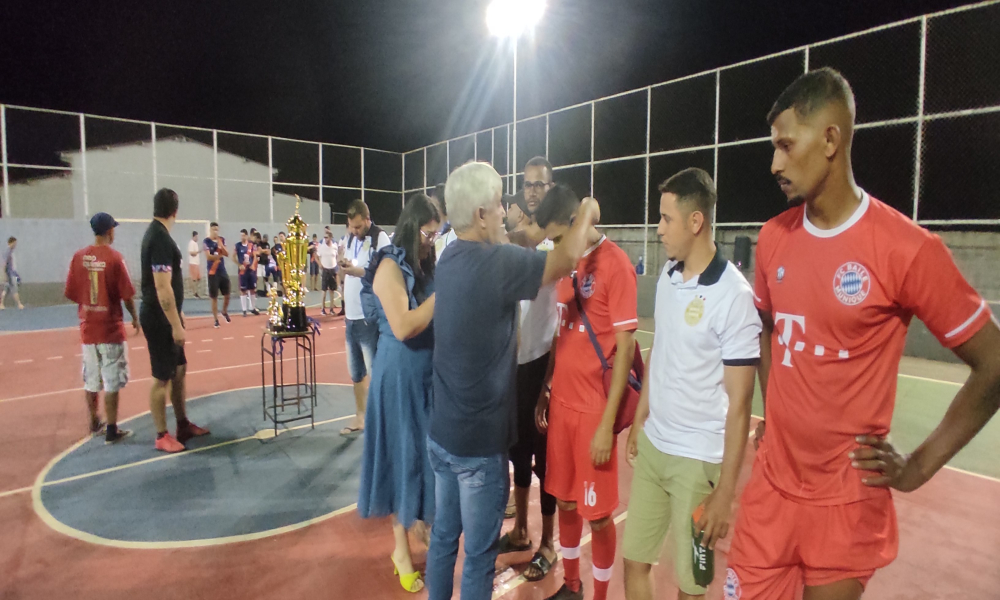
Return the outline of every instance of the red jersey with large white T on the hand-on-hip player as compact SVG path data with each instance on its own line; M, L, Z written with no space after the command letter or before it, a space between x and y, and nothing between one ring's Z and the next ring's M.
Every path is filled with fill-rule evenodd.
M913 316L947 348L991 318L941 238L863 195L840 227L805 206L768 221L754 295L774 319L759 468L789 498L839 505L889 490L861 483L855 436L889 433L899 360Z

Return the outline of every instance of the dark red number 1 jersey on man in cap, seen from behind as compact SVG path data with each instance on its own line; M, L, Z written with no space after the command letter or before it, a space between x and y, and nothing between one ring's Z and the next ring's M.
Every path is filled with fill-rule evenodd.
M125 260L110 246L88 246L73 255L66 297L79 305L84 344L125 341L122 300L135 296Z

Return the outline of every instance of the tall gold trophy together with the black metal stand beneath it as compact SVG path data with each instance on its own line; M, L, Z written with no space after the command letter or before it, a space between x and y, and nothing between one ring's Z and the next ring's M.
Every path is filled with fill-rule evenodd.
M278 253L284 290L280 300L277 286L268 290L267 329L260 339L261 405L264 420L271 419L274 423L275 435L278 434L278 425L302 419L309 419L310 424L316 426L316 333L306 317L306 290L302 284L309 258L309 239L306 223L299 216L301 199L298 196L295 198L295 214L287 223L289 235L284 248ZM286 348L286 342L291 342L295 349L294 383L291 370L287 382L285 379L285 362L291 358L286 356L290 350ZM268 356L271 357L270 404L265 369ZM294 413L291 412L292 407Z

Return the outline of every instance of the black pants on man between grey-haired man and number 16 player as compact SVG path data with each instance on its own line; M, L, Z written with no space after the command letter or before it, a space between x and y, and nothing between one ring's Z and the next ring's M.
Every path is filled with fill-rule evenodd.
M514 485L519 488L531 487L531 472L534 470L541 482L542 514L556 514L556 499L545 493L545 444L544 433L535 426L535 406L545 385L545 373L549 368L549 355L517 366L517 443L510 449L510 461L514 463ZM534 457L534 469L532 469Z

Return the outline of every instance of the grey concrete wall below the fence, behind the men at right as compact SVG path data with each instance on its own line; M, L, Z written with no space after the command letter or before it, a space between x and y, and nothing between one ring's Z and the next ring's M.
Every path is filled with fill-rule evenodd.
M652 317L656 297L656 281L666 263L663 245L656 239L656 232L650 228L608 228L604 230L608 238L622 246L629 254L633 264L638 262L642 254L644 232L649 235L649 262L646 265L646 275L639 278L639 316ZM759 228L716 230L716 243L726 258L732 259L737 236L746 235L751 240L750 262L743 270L750 283L753 283L754 253L757 245ZM938 231L945 244L955 258L955 264L976 290L982 294L993 309L994 314L1000 314L1000 234L981 231ZM638 254L636 254L638 252ZM905 353L931 360L959 362L949 350L941 347L937 339L918 319L910 325L906 338Z

